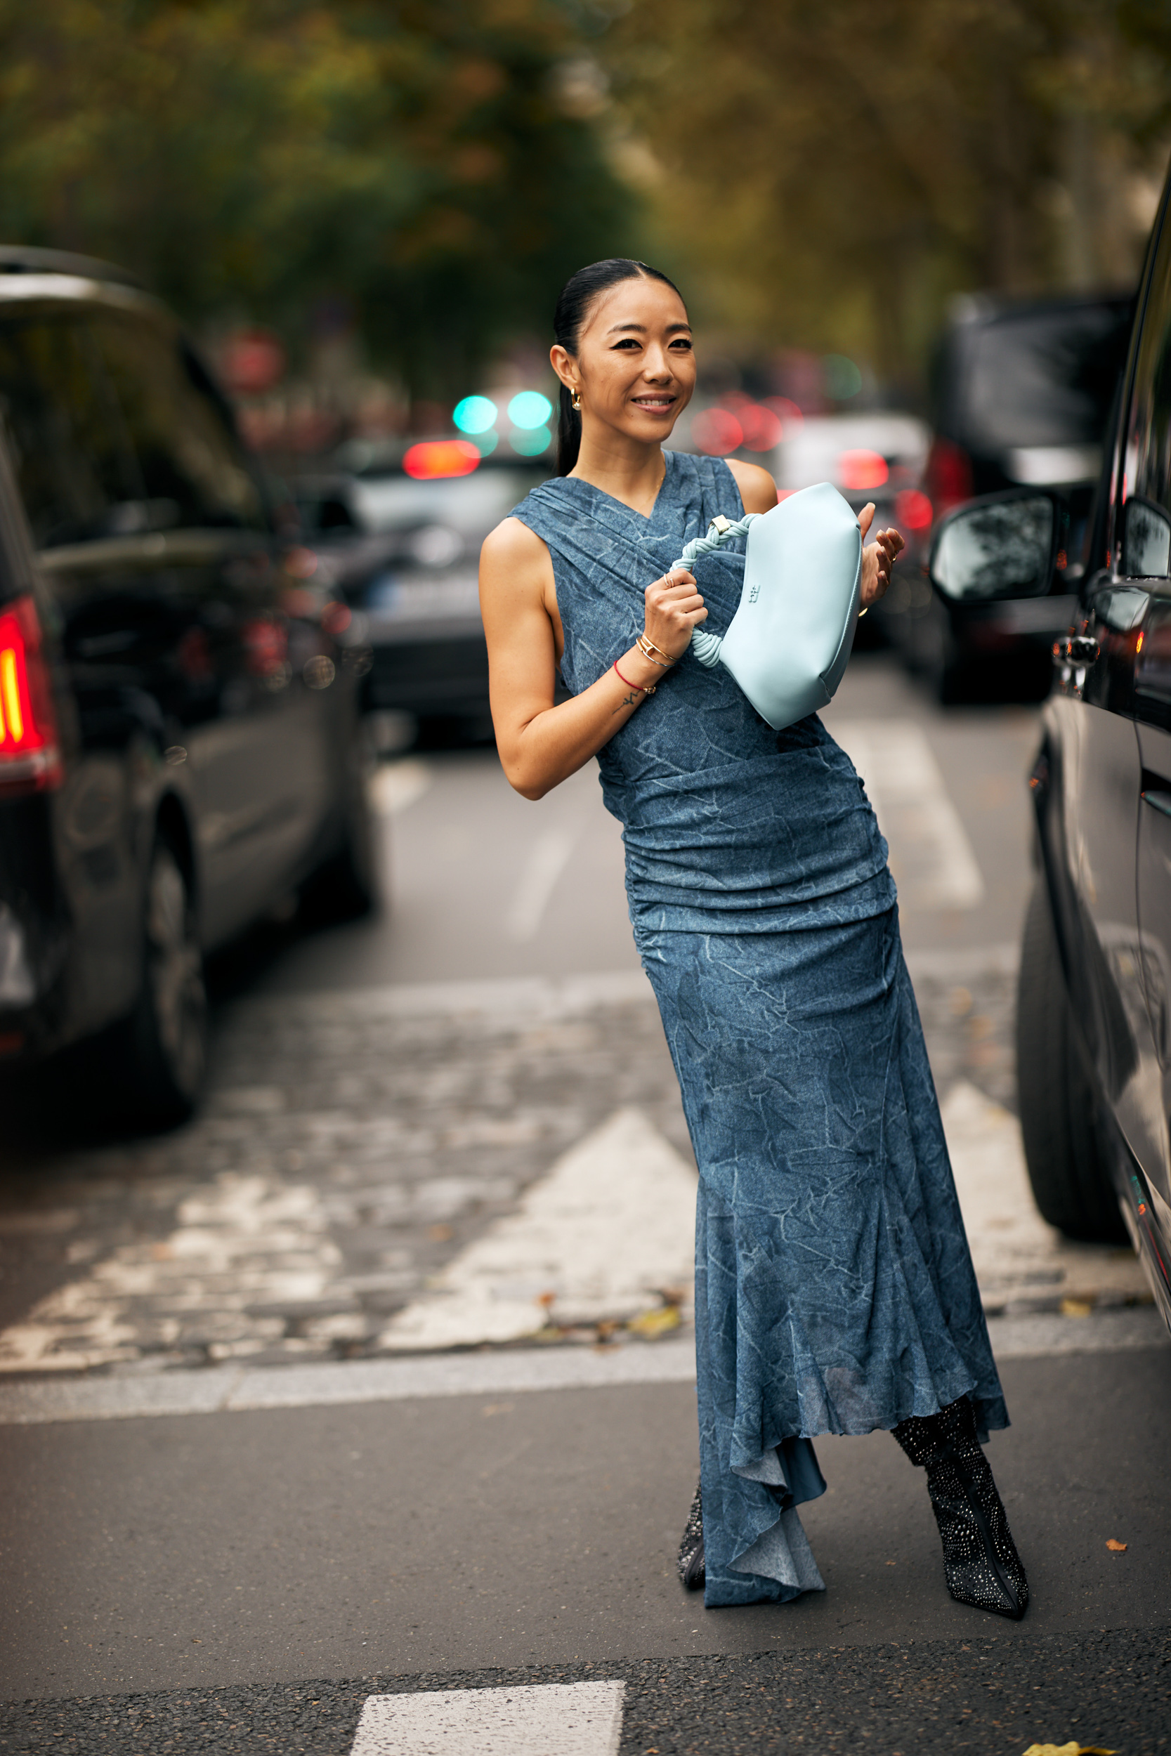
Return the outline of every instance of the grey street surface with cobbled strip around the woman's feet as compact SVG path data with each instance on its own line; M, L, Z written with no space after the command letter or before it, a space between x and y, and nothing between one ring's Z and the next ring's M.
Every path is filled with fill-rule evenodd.
M827 718L892 845L997 1313L1027 1619L950 1601L887 1435L818 1442L823 1594L683 1596L685 1299L660 1340L551 1301L535 1347L397 1357L435 1277L474 1321L476 1252L557 1227L606 1129L693 1175L593 774L532 806L486 752L421 753L377 780L388 911L221 971L205 1115L4 1171L0 1751L1171 1747L1171 1347L1129 1259L1036 1229L1017 1162L1036 715L945 715L864 657Z

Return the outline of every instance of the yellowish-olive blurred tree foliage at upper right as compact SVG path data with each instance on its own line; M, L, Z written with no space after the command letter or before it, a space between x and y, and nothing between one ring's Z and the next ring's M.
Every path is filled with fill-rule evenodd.
M634 0L600 53L695 304L746 346L911 376L952 291L1132 283L1167 0Z

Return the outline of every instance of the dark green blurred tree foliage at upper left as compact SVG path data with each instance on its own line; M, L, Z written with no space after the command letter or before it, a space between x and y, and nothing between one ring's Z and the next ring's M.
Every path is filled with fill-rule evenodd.
M351 302L416 393L544 332L632 197L558 0L0 0L0 235L297 342Z

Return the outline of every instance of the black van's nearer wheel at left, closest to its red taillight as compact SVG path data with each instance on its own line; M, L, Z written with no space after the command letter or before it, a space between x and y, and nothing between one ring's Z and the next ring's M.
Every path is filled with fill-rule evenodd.
M207 1071L207 992L191 880L158 836L142 899L142 985L104 1055L109 1108L135 1126L184 1122Z

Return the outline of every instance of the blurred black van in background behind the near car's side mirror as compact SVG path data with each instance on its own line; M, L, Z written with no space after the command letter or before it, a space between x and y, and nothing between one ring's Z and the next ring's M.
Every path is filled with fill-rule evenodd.
M1048 690L1050 646L1076 604L1132 311L1132 299L966 299L943 335L922 483L934 516L1022 485L1059 490L1062 530L1057 565L1038 597L957 599L906 576L887 594L888 639L941 701L1039 699Z

